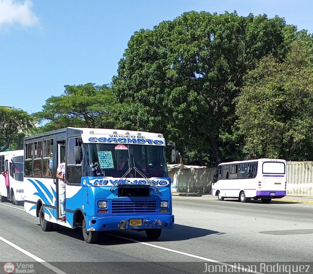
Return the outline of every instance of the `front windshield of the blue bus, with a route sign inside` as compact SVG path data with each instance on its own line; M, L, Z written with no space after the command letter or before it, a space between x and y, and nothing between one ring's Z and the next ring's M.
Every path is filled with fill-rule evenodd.
M129 171L125 177L168 177L162 146L83 144L83 151L83 176L120 178Z

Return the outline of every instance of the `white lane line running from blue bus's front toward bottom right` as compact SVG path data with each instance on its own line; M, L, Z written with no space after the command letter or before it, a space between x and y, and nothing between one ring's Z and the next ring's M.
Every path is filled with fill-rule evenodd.
M235 265L231 265L231 264L227 264L227 263L224 263L224 262L220 262L220 261L212 260L212 259L209 259L209 258L201 257L201 256L198 256L198 255L194 255L194 254L190 254L190 253L186 253L186 252L182 252L182 251L178 251L178 250L174 250L174 249L170 249L170 248L166 248L166 247L160 247L160 246L156 246L156 245L145 243L145 242L140 242L140 241L137 241L137 240L134 240L134 239L125 238L125 237L118 236L118 235L113 235L113 234L110 234L110 235L112 235L114 237L117 237L117 238L124 239L124 240L129 240L129 241L132 241L132 242L137 243L137 244L141 244L141 245L145 245L145 246L149 246L149 247L154 247L154 248L157 248L157 249L162 249L162 250L173 252L173 253L178 253L178 254L181 254L181 255L185 255L185 256L188 256L188 257L200 259L200 260L211 262L211 263L216 263L216 264L219 264L219 265L228 266L228 267L231 267L231 268L239 270L239 271L245 271L247 273L254 273L254 274L264 274L262 272L252 271L252 270L249 270L249 269L245 269L245 268L238 267L238 266L235 266Z

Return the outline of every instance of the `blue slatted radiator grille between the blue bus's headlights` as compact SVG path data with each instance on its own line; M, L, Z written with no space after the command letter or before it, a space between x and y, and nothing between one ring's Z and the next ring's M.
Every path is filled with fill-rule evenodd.
M156 213L156 201L112 200L112 213Z

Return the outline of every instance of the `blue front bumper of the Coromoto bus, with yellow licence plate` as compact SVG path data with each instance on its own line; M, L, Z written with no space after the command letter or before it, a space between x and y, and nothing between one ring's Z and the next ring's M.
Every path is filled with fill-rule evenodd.
M86 216L87 231L172 229L174 215Z

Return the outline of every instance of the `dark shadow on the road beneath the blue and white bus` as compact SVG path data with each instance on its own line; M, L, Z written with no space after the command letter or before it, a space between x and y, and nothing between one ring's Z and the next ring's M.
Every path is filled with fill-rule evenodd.
M57 232L68 237L72 237L81 241L84 241L84 237L81 229L71 230L68 228L61 227ZM134 239L140 242L171 242L171 241L182 241L189 240L199 237L204 237L212 234L224 234L223 232L201 229L183 225L175 225L174 229L163 230L158 240L149 240L146 237L145 232L136 232L132 230L125 231L109 231L102 232L100 236L100 245L122 245L133 243L128 239ZM126 238L126 239L124 239Z

